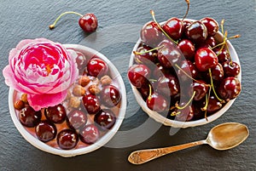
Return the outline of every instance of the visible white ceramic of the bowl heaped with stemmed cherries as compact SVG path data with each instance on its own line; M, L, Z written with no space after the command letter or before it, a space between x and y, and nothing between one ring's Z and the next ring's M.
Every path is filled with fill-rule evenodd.
M194 21L194 20L190 20L190 21ZM160 24L162 25L162 24L164 24L164 22L160 23ZM214 37L216 38L217 41L221 42L223 40L223 35L220 31L218 31L218 33ZM140 43L142 43L141 38L138 39L136 45L132 49L132 52L137 50ZM227 45L230 49L230 56L231 56L232 61L235 61L237 64L240 65L240 61L239 61L238 55L236 54L235 48L232 46L230 41L227 41ZM134 64L134 57L135 57L135 55L133 53L131 53L131 59L130 59L129 66L132 66ZM237 76L237 78L241 82L241 71L240 71L239 75ZM143 97L139 93L137 88L134 87L132 84L131 84L131 88L135 95L137 103L142 107L143 111L145 111L149 117L154 118L154 120L159 123L163 123L164 125L171 126L173 128L188 128L188 127L195 127L195 126L200 126L200 125L204 125L207 123L211 123L212 121L218 119L218 117L222 116L224 114L224 112L227 111L230 108L230 106L234 103L234 101L236 100L236 99L230 100L228 103L226 103L224 105L224 107L221 110L217 111L216 113L213 113L211 116L207 117L207 119L202 118L202 119L195 120L195 121L180 122L180 121L168 119L166 117L163 117L162 115L160 115L159 113L157 113L155 111L151 111L148 108L146 102L143 100Z

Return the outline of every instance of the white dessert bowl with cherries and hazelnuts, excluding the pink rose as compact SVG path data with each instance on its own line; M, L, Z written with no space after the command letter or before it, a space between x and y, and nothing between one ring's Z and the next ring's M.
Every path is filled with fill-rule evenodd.
M26 94L9 89L15 127L32 145L62 157L102 147L118 131L126 110L125 84L119 71L92 48L64 45L77 54L79 77L61 104L34 111Z

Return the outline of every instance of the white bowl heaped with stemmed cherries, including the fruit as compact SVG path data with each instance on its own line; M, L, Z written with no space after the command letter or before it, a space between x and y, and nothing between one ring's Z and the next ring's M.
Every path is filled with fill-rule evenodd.
M241 92L231 38L212 18L146 23L131 53L128 78L149 117L174 128L211 123ZM220 31L218 31L220 30Z

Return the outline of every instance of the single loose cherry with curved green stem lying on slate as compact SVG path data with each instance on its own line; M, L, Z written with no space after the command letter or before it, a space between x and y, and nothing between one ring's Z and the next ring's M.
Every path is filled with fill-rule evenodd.
M58 20L61 19L61 17L65 14L77 14L80 16L79 18L79 26L85 31L85 32L93 32L96 31L96 28L98 26L98 20L96 18L95 14L88 13L88 14L79 14L73 11L67 11L65 13L60 14L55 22L49 26L49 29L54 29L55 25Z

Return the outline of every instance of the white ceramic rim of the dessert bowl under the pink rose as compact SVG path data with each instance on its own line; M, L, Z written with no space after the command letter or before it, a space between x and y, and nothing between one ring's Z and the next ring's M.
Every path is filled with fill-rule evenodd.
M99 52L97 52L92 48L87 48L77 44L65 44L64 46L66 48L77 49L81 52L84 52L85 54L90 54L90 55L97 54L97 56L99 56L102 60L104 60L108 64L108 67L110 70L110 76L118 83L119 90L122 94L122 99L121 99L120 108L119 108L119 115L116 119L116 123L113 125L113 128L111 128L107 134L104 134L100 138L100 140L97 140L95 144L88 145L86 147L82 147L78 149L73 149L73 150L61 150L45 144L44 142L38 140L36 137L30 134L28 131L26 131L26 128L24 128L24 126L20 123L19 118L17 117L18 112L15 111L15 108L14 108L15 96L17 95L17 92L13 88L9 88L9 111L10 111L12 120L15 123L15 127L19 130L20 134L29 143L31 143L38 149L49 152L51 154L60 155L61 157L74 157L74 156L82 155L91 151L96 151L96 149L100 148L101 146L108 143L109 140L111 140L113 135L118 131L121 123L123 122L123 119L125 118L126 91L125 91L125 83L123 82L123 79L119 74L119 71L116 69L115 66L113 66L113 64L108 60L106 56L104 56L103 54L100 54Z

